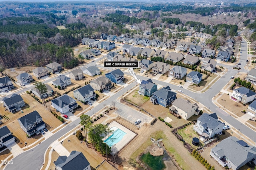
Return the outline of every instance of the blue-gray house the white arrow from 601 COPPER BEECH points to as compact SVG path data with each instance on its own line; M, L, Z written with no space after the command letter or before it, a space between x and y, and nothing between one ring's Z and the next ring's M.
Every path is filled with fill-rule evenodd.
M138 93L140 95L151 97L156 90L157 85L153 83L151 79L148 79L147 81L142 80Z

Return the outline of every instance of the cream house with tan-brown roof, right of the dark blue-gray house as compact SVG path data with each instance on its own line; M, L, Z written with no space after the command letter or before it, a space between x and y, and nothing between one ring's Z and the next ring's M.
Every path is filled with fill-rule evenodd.
M196 103L191 103L189 100L178 98L172 102L172 106L169 107L169 113L188 120L193 115L199 114L200 111L198 108Z

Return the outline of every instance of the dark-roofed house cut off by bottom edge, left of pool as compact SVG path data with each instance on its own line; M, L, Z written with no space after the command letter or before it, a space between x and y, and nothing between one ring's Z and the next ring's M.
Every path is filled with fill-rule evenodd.
M69 156L59 156L54 164L56 170L91 170L84 154L75 150Z

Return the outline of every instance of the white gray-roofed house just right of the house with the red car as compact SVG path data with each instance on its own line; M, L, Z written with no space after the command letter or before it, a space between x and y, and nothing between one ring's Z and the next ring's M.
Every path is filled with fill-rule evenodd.
M79 101L90 101L96 97L96 93L91 85L85 85L74 91L74 97Z

